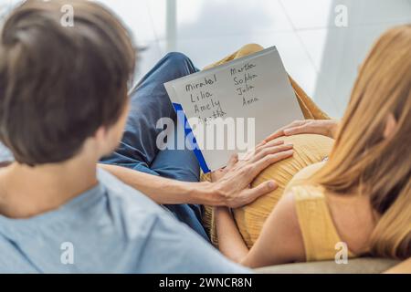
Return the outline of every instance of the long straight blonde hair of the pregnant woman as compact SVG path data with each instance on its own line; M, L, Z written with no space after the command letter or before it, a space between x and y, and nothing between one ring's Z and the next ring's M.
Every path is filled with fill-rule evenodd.
M395 132L385 139L389 115ZM365 193L381 215L376 256L411 256L411 25L387 31L357 78L329 162L313 177L333 193Z

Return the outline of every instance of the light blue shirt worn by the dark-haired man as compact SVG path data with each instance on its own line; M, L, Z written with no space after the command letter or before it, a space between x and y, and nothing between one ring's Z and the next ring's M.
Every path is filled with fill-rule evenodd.
M142 193L99 185L30 219L0 215L0 273L248 273Z

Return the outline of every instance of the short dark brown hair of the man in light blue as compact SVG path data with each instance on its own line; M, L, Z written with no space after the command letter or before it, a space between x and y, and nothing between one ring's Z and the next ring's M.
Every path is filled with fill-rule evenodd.
M63 26L71 5L74 26ZM136 50L121 22L84 0L28 0L0 36L0 141L27 165L64 162L128 99Z

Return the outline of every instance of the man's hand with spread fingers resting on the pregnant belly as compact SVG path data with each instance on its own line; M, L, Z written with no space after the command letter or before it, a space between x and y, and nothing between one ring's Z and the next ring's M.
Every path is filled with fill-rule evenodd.
M238 160L235 155L225 169L212 173L212 180L216 182L213 183L214 190L227 207L238 208L252 203L261 195L277 189L278 184L268 181L250 188L250 183L269 165L292 155L292 145L284 144L283 141L262 143L243 160Z

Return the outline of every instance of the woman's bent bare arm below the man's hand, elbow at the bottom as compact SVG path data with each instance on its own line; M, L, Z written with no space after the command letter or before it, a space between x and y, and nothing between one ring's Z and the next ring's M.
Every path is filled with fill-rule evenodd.
M292 193L269 215L255 245L248 251L227 211L216 213L218 245L224 255L249 267L305 261L305 250Z

